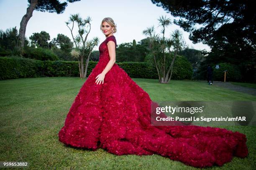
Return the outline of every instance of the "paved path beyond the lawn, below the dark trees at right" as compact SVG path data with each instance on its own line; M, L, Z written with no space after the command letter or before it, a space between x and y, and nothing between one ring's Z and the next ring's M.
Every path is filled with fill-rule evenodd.
M207 83L207 81L202 81L202 80L197 80L197 81ZM230 90L235 90L237 92L244 92L250 95L256 95L255 88L243 87L240 85L233 85L230 82L213 81L212 85L224 87Z

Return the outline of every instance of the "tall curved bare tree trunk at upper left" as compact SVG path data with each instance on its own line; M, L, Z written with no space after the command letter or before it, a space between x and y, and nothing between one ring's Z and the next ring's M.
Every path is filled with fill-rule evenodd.
M28 24L28 20L32 17L33 10L37 5L38 0L31 0L29 7L27 8L27 13L23 16L20 22L20 30L19 30L19 39L20 39L20 47L23 49L25 42L25 34L26 27Z

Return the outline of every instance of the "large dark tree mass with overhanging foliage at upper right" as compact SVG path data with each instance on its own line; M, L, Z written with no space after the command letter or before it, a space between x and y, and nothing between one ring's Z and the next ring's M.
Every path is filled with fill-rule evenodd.
M174 24L189 32L193 43L211 47L201 63L238 65L242 80L256 81L256 13L253 0L151 0L179 19ZM250 76L248 76L250 75Z

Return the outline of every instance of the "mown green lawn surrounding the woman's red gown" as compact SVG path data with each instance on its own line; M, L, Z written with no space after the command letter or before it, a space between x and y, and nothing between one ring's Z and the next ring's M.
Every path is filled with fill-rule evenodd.
M133 79L155 101L256 100L256 96L189 80ZM117 156L98 149L66 147L58 140L69 108L85 80L41 77L0 81L0 161L26 161L31 169L197 169L160 155ZM222 126L247 135L248 158L222 167L256 169L256 127Z

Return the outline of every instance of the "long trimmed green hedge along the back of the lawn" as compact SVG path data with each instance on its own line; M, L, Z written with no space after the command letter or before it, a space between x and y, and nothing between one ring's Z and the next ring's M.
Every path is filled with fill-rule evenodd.
M147 62L116 63L130 77L158 79L156 68ZM87 77L97 62L90 61ZM175 71L176 70L176 71ZM179 70L179 71L177 71ZM25 77L79 77L77 61L34 60L24 57L0 57L0 80ZM172 79L191 79L192 68L186 61L177 57L174 64Z

